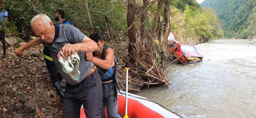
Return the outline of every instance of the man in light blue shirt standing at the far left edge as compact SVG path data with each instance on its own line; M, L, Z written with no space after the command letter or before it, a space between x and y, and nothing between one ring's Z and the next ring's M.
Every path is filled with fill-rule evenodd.
M7 22L8 12L4 10L4 4L0 3L0 40L3 44L4 53L2 58L6 58L6 42L5 42L5 32L4 27Z

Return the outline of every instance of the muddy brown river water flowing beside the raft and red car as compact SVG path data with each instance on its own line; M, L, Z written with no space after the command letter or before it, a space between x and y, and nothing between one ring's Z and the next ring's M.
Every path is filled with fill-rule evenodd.
M135 93L184 118L256 118L256 42L216 40L195 46L201 63L169 67L169 88Z

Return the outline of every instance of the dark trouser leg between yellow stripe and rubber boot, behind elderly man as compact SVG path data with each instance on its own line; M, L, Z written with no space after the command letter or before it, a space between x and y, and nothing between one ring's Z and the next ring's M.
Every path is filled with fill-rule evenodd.
M59 81L59 76L58 76L58 71L57 71L55 63L51 60L46 59L46 58L44 58L44 61L46 63L46 68L48 69L48 71L50 73L52 83L58 82Z

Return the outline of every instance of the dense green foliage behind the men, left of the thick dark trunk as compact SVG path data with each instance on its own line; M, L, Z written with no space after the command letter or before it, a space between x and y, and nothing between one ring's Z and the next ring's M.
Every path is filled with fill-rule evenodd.
M103 15L108 18L110 28L119 31L126 29L127 10L124 1L88 0L88 4L95 30L105 32L106 26ZM30 22L36 14L47 14L55 22L57 9L65 10L65 19L89 35L87 32L89 23L84 0L15 1L6 3L4 9L8 11L9 21L16 22L17 31L22 33L23 38L33 35Z

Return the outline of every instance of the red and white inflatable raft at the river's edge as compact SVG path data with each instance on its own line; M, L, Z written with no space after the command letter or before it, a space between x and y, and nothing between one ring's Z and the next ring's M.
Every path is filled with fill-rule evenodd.
M121 93L120 93L121 92ZM118 113L125 115L125 91L118 93ZM145 97L128 93L128 117L129 118L182 118L178 114L154 103ZM108 118L105 109L106 118ZM81 106L80 118L86 118L83 105Z

